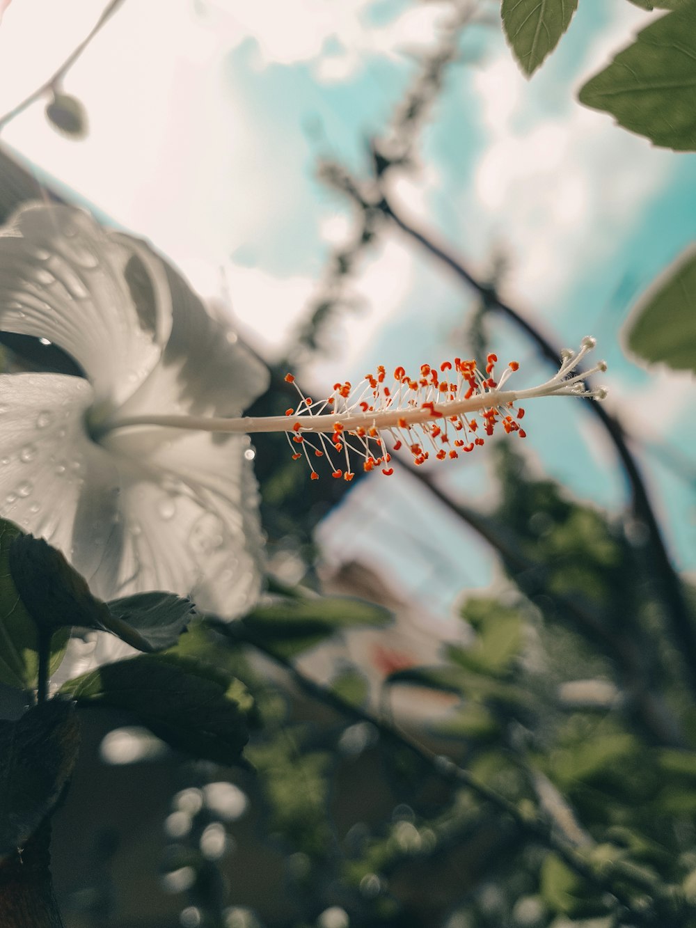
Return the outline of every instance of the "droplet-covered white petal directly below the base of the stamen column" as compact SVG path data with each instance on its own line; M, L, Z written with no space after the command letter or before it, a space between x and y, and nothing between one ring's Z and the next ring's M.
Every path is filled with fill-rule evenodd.
M168 589L226 618L251 608L263 539L249 439L141 430L106 446L121 471L123 532L91 577L97 595Z

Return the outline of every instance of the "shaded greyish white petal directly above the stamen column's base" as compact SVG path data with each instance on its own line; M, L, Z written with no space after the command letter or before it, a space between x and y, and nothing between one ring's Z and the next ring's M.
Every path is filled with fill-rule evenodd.
M120 414L238 416L267 389L268 370L234 332L209 315L183 277L169 265L165 270L172 294L172 334L161 364Z

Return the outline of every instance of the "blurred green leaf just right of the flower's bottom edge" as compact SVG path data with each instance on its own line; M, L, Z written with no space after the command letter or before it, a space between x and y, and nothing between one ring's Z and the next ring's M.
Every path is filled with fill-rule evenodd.
M392 613L364 599L284 599L259 606L241 620L242 635L284 658L314 647L342 628L388 625Z

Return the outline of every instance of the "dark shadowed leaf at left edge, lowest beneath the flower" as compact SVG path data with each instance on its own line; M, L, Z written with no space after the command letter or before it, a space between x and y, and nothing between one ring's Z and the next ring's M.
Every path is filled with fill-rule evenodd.
M56 805L78 743L74 706L66 700L0 721L0 856L21 847Z

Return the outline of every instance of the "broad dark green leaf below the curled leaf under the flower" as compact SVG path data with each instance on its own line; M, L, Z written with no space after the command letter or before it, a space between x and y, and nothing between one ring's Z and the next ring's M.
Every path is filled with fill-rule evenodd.
M78 705L124 709L172 747L220 764L238 763L249 739L242 691L219 667L173 654L105 664L61 688Z

